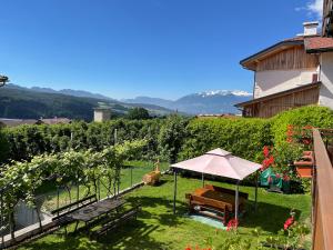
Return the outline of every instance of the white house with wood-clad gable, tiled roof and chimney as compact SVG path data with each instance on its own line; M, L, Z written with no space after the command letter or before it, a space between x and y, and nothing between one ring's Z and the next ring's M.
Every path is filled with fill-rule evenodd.
M269 118L309 104L333 109L333 39L317 34L319 22L304 32L243 59L254 72L253 99L238 103L243 117Z

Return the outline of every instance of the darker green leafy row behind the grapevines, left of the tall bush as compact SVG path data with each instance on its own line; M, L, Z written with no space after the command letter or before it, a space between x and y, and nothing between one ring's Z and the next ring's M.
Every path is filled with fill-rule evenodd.
M148 147L147 156L157 154L160 128L163 119L151 120L111 120L108 122L73 122L71 124L54 126L20 126L2 129L0 140L2 154L0 161L23 160L40 153L51 153L68 150L93 149L101 150L114 144L114 131L117 140L122 143L127 140L145 138Z

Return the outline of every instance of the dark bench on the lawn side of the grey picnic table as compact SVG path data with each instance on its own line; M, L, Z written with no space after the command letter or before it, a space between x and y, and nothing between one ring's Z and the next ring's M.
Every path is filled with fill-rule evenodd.
M95 237L101 237L103 234L107 234L108 231L111 229L120 227L122 223L127 222L128 220L138 217L138 212L140 211L140 206L137 206L130 210L127 210L120 214L117 214L113 218L109 218L108 221L105 221L102 227L94 232Z

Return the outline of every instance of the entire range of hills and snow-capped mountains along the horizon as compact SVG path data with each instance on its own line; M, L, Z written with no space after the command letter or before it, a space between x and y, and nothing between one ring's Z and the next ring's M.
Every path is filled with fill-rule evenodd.
M133 107L145 108L152 116L165 116L175 111L188 114L239 113L234 104L248 101L251 97L245 91L216 90L188 94L178 100L151 97L115 100L82 90L26 88L10 83L0 89L0 117L67 117L91 121L93 108L101 106L111 107L114 116L123 116Z

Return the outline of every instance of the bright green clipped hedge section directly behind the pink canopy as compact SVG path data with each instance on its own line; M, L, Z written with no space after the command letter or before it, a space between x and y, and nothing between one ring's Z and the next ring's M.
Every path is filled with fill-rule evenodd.
M271 122L265 119L194 119L188 126L188 137L181 158L199 156L214 148L255 160L265 144L272 144Z

